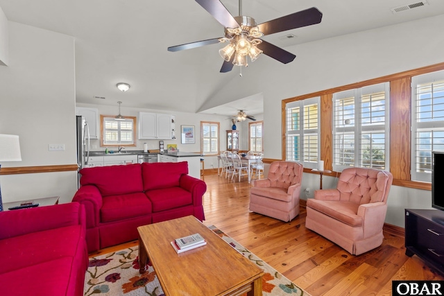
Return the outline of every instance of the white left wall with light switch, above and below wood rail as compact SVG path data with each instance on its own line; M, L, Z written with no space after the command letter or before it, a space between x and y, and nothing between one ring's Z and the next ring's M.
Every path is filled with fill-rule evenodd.
M74 38L8 22L9 63L0 67L0 133L18 134L22 162L3 168L76 164ZM50 143L65 151L49 152ZM3 202L59 195L71 201L76 171L1 175Z

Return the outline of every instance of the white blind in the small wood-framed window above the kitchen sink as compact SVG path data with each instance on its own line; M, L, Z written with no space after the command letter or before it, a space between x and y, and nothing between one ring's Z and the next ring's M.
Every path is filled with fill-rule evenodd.
M134 120L117 121L112 117L103 117L103 144L134 144Z

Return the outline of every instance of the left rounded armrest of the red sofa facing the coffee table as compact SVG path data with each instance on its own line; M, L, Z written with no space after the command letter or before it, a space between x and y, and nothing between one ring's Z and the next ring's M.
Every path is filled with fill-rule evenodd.
M102 195L94 185L81 186L74 195L73 202L85 205L86 227L93 228L100 223L100 209L103 204Z

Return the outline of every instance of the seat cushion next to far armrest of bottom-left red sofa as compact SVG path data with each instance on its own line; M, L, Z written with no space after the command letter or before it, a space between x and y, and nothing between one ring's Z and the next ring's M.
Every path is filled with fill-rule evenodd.
M66 256L80 256L85 252L84 249L78 250L79 247L85 247L85 243L80 243L80 240L85 240L80 225L3 239L0 241L0 274ZM86 262L83 263L86 265Z

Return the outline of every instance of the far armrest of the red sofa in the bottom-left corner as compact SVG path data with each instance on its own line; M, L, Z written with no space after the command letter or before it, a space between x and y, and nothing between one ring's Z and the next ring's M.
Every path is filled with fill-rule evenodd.
M85 229L85 207L78 202L3 211L0 212L0 239L71 225L83 225Z

